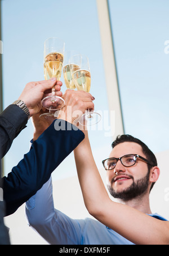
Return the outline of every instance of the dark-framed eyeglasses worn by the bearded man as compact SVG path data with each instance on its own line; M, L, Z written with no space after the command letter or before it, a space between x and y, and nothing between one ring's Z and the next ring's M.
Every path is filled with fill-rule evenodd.
M121 161L121 163L124 167L131 167L131 166L135 165L137 158L140 158L140 159L144 160L147 164L152 165L144 157L136 155L136 154L124 155L119 158L111 157L111 158L103 160L102 163L103 163L105 170L113 170L115 168L115 166L117 165L118 160Z

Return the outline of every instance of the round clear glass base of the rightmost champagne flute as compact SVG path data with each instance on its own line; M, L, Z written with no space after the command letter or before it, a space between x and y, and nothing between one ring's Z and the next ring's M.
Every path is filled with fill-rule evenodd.
M86 113L83 114L83 116L79 120L79 123L83 126L89 127L91 125L96 125L96 123L99 123L100 120L101 116L99 113L86 110Z

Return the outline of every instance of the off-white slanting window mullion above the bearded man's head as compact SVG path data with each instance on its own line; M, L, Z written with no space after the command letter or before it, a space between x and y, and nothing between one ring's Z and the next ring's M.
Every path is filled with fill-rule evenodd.
M108 0L96 0L97 13L100 25L100 37L103 50L106 89L108 95L109 111L115 112L114 135L124 134L121 101L117 78L117 67L114 57L113 33L109 17ZM112 129L113 130L113 129Z

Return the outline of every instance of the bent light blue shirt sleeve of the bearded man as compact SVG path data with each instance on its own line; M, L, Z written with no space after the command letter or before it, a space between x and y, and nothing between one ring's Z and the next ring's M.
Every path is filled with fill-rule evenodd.
M54 208L51 178L26 202L26 217L29 225L51 245L81 244L78 221Z

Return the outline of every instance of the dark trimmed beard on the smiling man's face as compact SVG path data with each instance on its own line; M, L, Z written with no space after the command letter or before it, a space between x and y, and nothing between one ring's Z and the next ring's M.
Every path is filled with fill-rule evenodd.
M133 183L130 187L127 187L127 189L124 189L120 192L115 192L113 187L108 185L108 190L110 192L110 195L114 198L122 199L123 201L128 201L137 197L140 197L143 195L146 190L148 189L149 185L149 175L150 172L148 171L148 174L144 178L141 178L140 180L134 181L134 178L130 176L133 180ZM113 183L113 182L112 182Z

